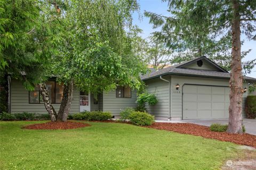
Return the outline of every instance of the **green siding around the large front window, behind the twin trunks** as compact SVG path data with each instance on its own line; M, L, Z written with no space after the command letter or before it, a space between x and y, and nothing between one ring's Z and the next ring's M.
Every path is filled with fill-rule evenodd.
M44 104L29 104L28 90L26 90L21 81L11 80L11 113L31 112L37 114L47 113ZM56 112L59 111L60 104L53 104ZM79 112L79 92L74 89L73 101L70 113Z

